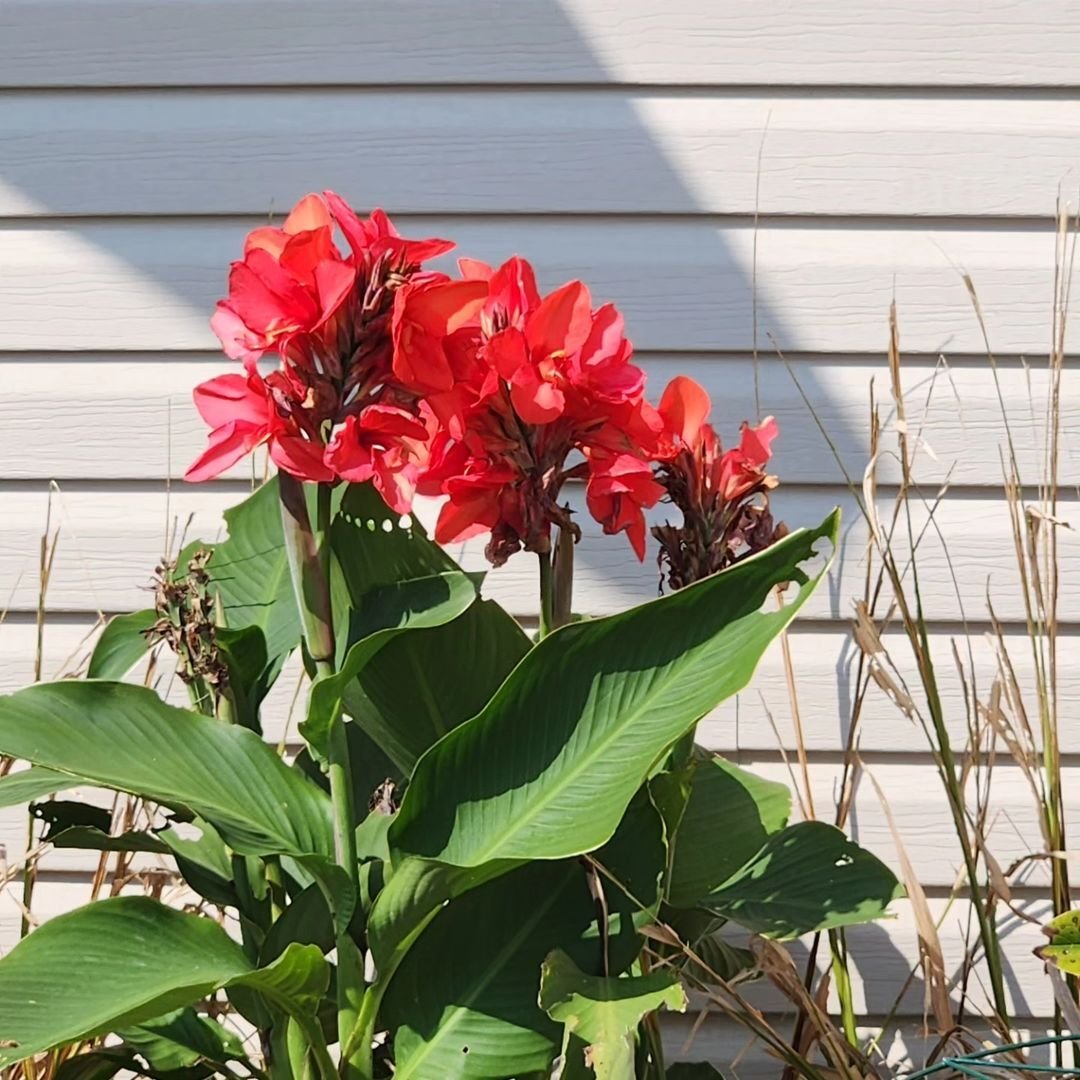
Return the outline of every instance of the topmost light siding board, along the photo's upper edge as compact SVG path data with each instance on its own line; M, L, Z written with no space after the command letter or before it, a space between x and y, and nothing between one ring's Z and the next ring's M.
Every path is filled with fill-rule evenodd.
M0 79L1075 85L1075 15L1071 0L8 0Z

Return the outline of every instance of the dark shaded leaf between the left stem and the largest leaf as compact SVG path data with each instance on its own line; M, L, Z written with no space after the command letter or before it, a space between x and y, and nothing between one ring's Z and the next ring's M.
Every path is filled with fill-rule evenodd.
M424 751L488 703L529 648L514 619L477 599L453 622L389 642L346 689L346 712L407 775Z

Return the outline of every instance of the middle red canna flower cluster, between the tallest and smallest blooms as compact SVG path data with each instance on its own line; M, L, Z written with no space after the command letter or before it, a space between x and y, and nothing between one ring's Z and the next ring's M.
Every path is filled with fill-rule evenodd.
M558 503L588 478L590 512L645 555L643 507L663 494L649 459L661 431L630 363L622 316L593 310L575 281L545 297L532 268L462 260L459 281L417 281L396 297L394 375L438 421L420 490L447 501L441 542L491 532L488 558L546 552L551 527L577 534Z

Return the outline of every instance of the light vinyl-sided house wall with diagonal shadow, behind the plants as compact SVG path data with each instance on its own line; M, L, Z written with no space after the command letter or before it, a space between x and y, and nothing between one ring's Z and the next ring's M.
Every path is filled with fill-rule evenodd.
M190 389L228 366L207 318L245 231L329 187L359 207L384 206L403 231L456 238L470 255L519 252L549 286L585 279L623 308L657 392L671 375L692 374L729 437L743 418L778 417L781 515L800 525L836 503L848 511L829 583L791 635L806 774L816 813L831 819L867 540L841 464L861 483L873 380L887 397L894 298L928 504L948 482L921 586L955 732L967 721L950 640L970 620L988 680L987 588L1005 633L1023 644L1000 492L1002 407L1034 482L1054 204L1059 187L1068 197L1080 185L1078 55L1075 0L5 0L0 685L33 675L46 525L59 532L44 595L46 677L78 665L103 613L146 604L149 573L177 532L220 530L251 467L198 488L177 480L204 436ZM1000 397L963 273L978 292ZM1072 370L1064 387L1068 434L1080 413ZM885 416L888 434L894 417ZM885 457L880 469L888 502L897 467ZM1067 518L1078 498L1067 441L1062 478ZM599 613L654 595L651 562L637 565L622 539L582 524L579 607ZM480 566L478 549L465 556ZM1080 546L1067 532L1061 557L1071 717ZM491 575L488 588L515 613L535 613L527 561ZM1029 681L1030 670L1020 677ZM275 734L291 690L275 699ZM784 779L794 716L777 650L753 688L707 719L703 739ZM1065 739L1070 755L1080 752L1071 719ZM876 687L861 750L957 969L967 905L947 904L959 855L945 800L921 730ZM1080 779L1076 762L1066 773ZM1066 787L1074 829L1076 786ZM1030 793L1007 765L993 802L1002 865L1042 849ZM851 821L895 864L869 783ZM9 862L22 858L19 812L0 812L0 843ZM50 855L36 907L85 900L93 865ZM1041 918L1045 881L1038 865L1022 876L1015 906ZM894 921L850 934L870 1017L891 1009L917 960L912 913L896 909ZM18 921L9 895L0 947ZM1038 929L1022 918L1007 926L1015 1009L1040 1029L1053 1001L1031 956ZM764 1002L775 1008L774 996ZM908 1031L922 1009L916 977L900 1005ZM718 1063L742 1053L745 1037L727 1022L693 1024L672 1026L673 1052ZM739 1075L775 1071L751 1051Z

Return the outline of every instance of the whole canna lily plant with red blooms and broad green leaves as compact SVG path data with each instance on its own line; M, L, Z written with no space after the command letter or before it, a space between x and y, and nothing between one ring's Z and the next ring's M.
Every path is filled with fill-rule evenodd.
M773 523L774 423L725 453L691 380L649 404L615 307L581 282L542 295L521 258L424 269L450 246L330 192L247 238L212 321L242 370L195 389L211 432L187 478L257 446L275 477L159 568L90 677L0 699L0 753L29 762L0 801L49 800L57 847L167 858L187 902L116 896L26 936L0 959L0 1065L659 1078L687 957L753 963L721 929L791 939L897 894L693 742L836 543L835 513ZM418 492L442 499L433 539ZM661 502L667 594L575 616L582 511L644 558ZM536 634L441 546L482 535L495 566L536 556ZM176 653L187 708L123 681L150 648ZM282 756L260 705L297 651L302 747ZM84 786L158 826L65 799Z

